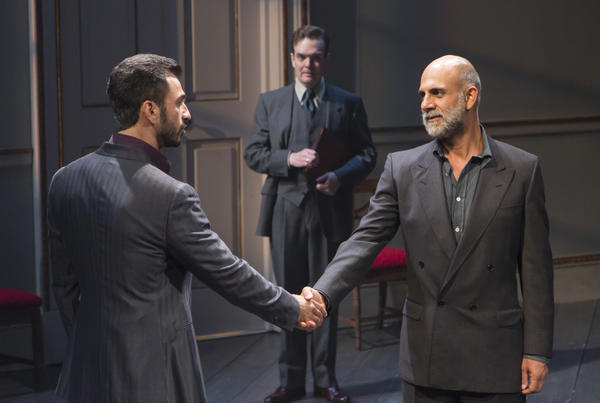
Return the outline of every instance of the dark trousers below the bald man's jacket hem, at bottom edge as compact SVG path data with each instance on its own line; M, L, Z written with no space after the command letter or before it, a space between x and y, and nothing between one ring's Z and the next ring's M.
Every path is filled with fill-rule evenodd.
M500 376L500 375L499 375ZM404 403L525 403L521 393L476 393L443 390L402 381Z

